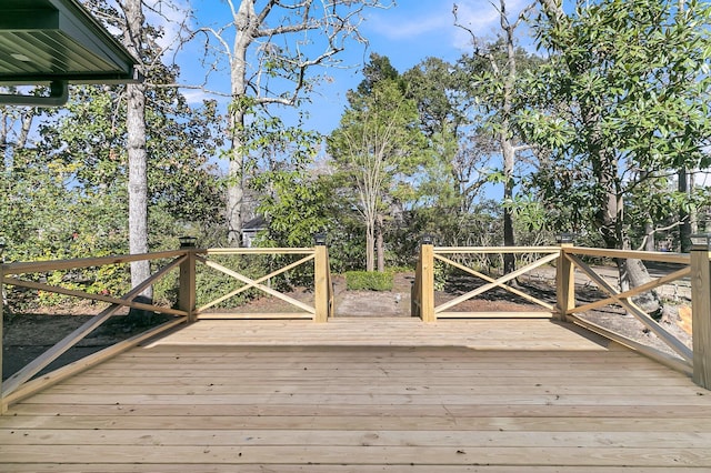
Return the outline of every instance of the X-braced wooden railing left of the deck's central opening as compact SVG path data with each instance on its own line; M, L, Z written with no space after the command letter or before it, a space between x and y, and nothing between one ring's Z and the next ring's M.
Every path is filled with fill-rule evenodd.
M232 254L238 256L247 256L250 254L262 255L284 255L297 254L301 255L300 260L284 265L269 274L253 279L239 271L227 268L210 258L216 255ZM133 261L152 261L153 263L168 262L157 270L149 279L143 281L140 285L133 288L131 291L121 296L110 294L94 294L82 290L68 289L61 284L49 284L47 282L38 282L38 278L33 278L37 274L46 274L56 271L77 271L89 268L101 268L117 264L129 264ZM301 264L313 261L313 299L314 304L308 305L300 301L297 301L287 294L278 292L270 286L263 284L272 278L290 271ZM228 275L232 280L241 284L240 288L224 294L213 301L197 308L198 284L197 284L197 263L204 264L206 268L217 270L222 274ZM153 303L144 303L140 300L140 294L150 286L159 283L167 275L171 273L178 273L179 290L178 298L174 304L159 305ZM164 332L179 325L181 323L192 322L201 316L211 318L298 318L306 316L313 319L316 322L326 322L333 313L333 292L331 284L331 275L329 271L328 249L324 245L317 245L312 249L196 249L196 248L182 248L174 251L164 251L149 254L136 254L136 255L117 255L106 258L87 258L78 260L60 260L60 261L38 261L38 262L18 262L0 265L0 293L4 294L4 286L11 285L17 288L26 288L34 291L43 291L47 293L62 294L77 300L103 302L109 305L99 314L92 316L86 321L81 326L76 329L69 335L64 336L52 348L47 350L38 359L30 362L23 369L12 374L6 381L0 384L0 413L7 410L10 403L30 395L49 384L59 382L67 379L78 371L86 370L89 366L96 365L101 361L107 360L124 350L128 350L142 341L153 338L157 334ZM272 296L281 299L297 308L301 309L302 313L283 313L283 314L263 314L263 313L250 313L241 314L239 311L212 311L211 308L229 300L230 298L244 292L249 289L261 290ZM2 308L4 301L0 300L0 375L2 374ZM54 360L69 351L72 346L77 345L81 340L87 338L92 331L107 322L112 315L114 315L122 308L130 308L134 310L162 313L174 316L158 326L151 328L138 335L131 336L128 340L119 342L112 346L103 349L92 355L89 355L80 361L68 364L63 368L52 371L48 374L42 374L37 378L37 374L46 370ZM306 315L303 315L306 314Z

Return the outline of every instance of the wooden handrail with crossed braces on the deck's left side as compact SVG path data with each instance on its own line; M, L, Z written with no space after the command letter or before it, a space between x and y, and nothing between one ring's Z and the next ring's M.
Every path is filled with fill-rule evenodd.
M268 255L268 254L297 254L304 255L299 261L288 264L277 271L271 272L264 276L252 280L236 271L224 268L216 262L208 261L208 255ZM133 288L129 293L121 298L108 295L108 294L91 294L86 291L67 289L60 285L52 285L37 281L28 281L19 278L22 274L37 274L51 271L69 271L82 268L96 268L102 265L112 264L127 264L134 261L154 261L161 259L171 259L171 262L161 268L157 273L151 275L148 280L143 281L137 288ZM261 284L262 282L289 271L300 264L314 260L314 293L316 303L314 306L309 306L300 301L281 294L268 286ZM141 309L152 312L162 312L179 318L173 322L166 323L159 328L151 329L144 334L137 335L131 341L120 342L111 349L104 350L103 354L91 355L91 362L74 363L72 370L81 369L82 366L93 365L101 360L111 356L122 350L128 349L130 345L139 343L147 336L151 336L159 331L168 330L174 326L177 323L192 322L196 320L200 310L206 308L196 308L196 293L197 293L197 272L196 262L203 262L219 271L229 274L230 276L242 281L243 288L233 291L231 295L242 292L249 288L259 288L279 299L287 300L288 302L299 306L307 311L316 321L326 322L333 314L333 288L331 282L331 274L328 261L328 250L326 246L316 248L216 248L216 249L197 249L197 248L181 248L180 250L162 251L156 253L144 254L129 254L129 255L109 255L101 258L82 258L74 260L54 260L54 261L34 261L34 262L16 262L0 265L0 285L10 284L17 286L23 286L29 289L36 289L47 291L50 293L63 294L72 298L84 299L90 301L106 302L109 305L100 314L93 316L91 320L84 322L82 326L74 330L71 334L67 335L63 340L58 342L54 346L49 349L44 354L40 355L37 360L24 366L19 372L14 373L7 381L0 383L0 413L7 410L8 402L14 402L18 399L28 395L28 393L36 392L42 389L48 383L57 382L59 379L63 379L63 375L54 375L57 372L52 372L42 380L33 380L30 382L33 375L49 365L59 355L64 353L71 346L81 341L90 332L96 330L103 322L109 320L111 315L122 306ZM178 294L178 309L164 308L150 303L134 302L137 298L147 286L154 284L166 276L174 269L180 271L180 288ZM0 288L1 289L1 288ZM228 294L228 296L231 296ZM223 300L223 299L220 299ZM0 299L0 366L2 363L2 305L3 300ZM104 358L106 356L106 358ZM61 370L61 369L60 369ZM63 372L66 372L64 370ZM73 372L73 371L72 371ZM0 368L0 376L2 371Z

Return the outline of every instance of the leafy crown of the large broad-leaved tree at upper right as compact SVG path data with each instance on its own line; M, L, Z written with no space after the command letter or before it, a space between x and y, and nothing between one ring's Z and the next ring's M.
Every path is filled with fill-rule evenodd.
M570 16L539 18L551 57L529 78L537 108L519 123L548 150L532 189L557 228L621 248L640 238L630 229L690 207L668 175L710 164L711 7L679 6L580 1Z

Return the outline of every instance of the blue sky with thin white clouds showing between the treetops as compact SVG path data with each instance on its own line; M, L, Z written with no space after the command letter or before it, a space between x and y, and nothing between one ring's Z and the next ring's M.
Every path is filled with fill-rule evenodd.
M236 2L239 3L237 0ZM351 48L340 56L343 63L350 68L321 71L329 76L329 80L322 82L318 93L311 97L312 103L308 105L311 119L308 125L322 133L328 133L338 125L346 107L346 92L354 89L362 80L360 70L370 52L389 57L393 67L404 72L430 56L454 61L469 51L468 33L453 26L453 3L451 0L399 0L397 6L390 9L368 11L367 19L360 28L361 34L369 40L368 49L351 43ZM468 24L478 36L493 38L499 17L489 0L459 0L457 3L460 21ZM509 11L518 13L524 3L524 0L509 0ZM230 14L223 1L190 0L190 8L196 12L198 22L202 24L226 22ZM179 54L183 83L201 80L203 71L196 61L200 51L200 47L193 44ZM210 87L227 92L228 72L214 73ZM184 93L194 102L203 97L196 90L184 90Z

